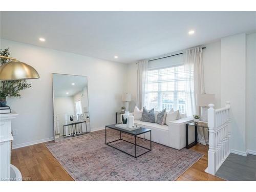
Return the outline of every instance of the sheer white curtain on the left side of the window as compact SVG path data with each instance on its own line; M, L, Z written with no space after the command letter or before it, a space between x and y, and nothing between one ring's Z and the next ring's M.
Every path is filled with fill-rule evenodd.
M137 106L141 109L144 106L144 95L147 81L147 60L136 62L137 65Z

